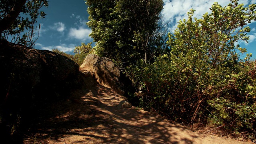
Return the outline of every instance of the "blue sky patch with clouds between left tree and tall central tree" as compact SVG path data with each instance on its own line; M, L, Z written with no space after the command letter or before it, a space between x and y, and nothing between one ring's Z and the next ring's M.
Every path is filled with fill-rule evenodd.
M46 18L38 20L41 29L35 48L72 53L81 42L92 42L88 36L91 30L85 24L89 15L84 0L49 0L48 4L42 8Z

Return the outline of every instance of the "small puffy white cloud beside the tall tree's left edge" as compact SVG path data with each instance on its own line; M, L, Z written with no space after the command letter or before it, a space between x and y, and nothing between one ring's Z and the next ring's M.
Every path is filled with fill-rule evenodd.
M69 30L69 37L75 38L78 40L86 40L89 39L89 34L92 32L91 29L79 27L77 28L70 28Z

